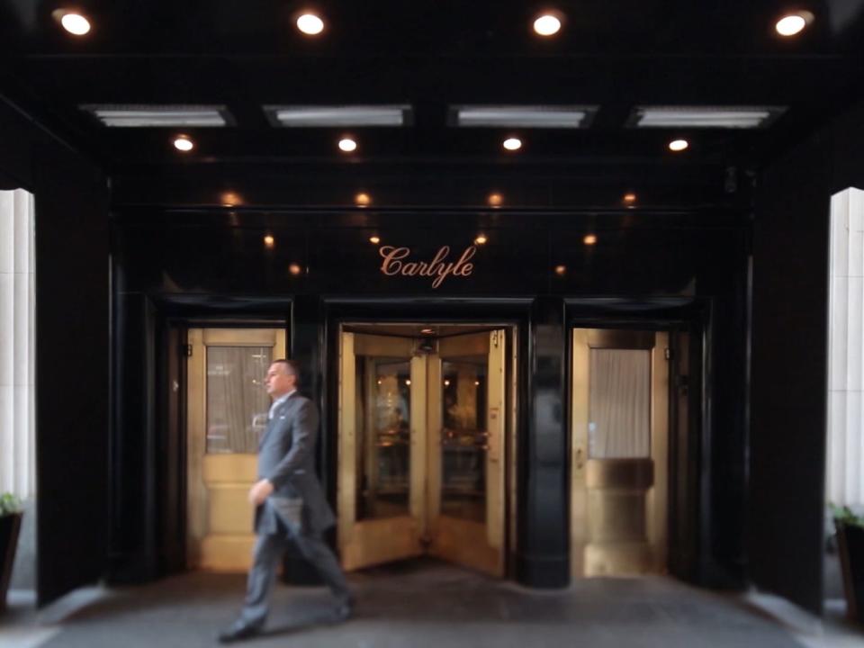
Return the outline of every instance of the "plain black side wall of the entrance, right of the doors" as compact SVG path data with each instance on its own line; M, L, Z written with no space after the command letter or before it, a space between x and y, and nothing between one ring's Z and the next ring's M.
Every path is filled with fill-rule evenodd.
M864 187L859 106L769 166L753 245L755 583L822 610L831 195Z

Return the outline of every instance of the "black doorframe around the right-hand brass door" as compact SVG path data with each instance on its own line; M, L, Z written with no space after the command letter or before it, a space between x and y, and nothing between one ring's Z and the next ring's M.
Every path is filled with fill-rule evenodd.
M644 299L565 298L567 349L564 387L572 393L572 329L639 329L665 331L675 351L677 333L689 336L688 411L686 449L676 433L680 408L673 395L680 373L671 363L669 372L669 448L667 500L667 569L682 581L698 583L702 571L702 539L707 536L709 478L701 478L711 447L712 301L697 297ZM674 340L674 341L673 341ZM572 446L573 408L568 398L567 446ZM570 495L572 466L567 462L568 530L571 530Z

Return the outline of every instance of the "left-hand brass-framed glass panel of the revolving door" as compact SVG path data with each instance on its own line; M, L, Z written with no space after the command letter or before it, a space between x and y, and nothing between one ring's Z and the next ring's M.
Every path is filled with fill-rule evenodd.
M422 554L425 358L413 340L343 332L338 544L358 569Z

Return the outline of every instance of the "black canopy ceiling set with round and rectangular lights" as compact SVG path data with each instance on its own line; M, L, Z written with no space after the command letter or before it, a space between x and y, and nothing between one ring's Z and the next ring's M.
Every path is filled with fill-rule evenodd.
M754 0L556 2L563 31L542 40L530 23L549 4L317 2L328 29L293 27L311 4L275 0L85 0L84 38L51 13L60 0L0 0L0 94L112 173L191 163L344 167L401 164L759 166L862 96L864 0L795 3L815 22L784 40L773 25L788 3ZM173 131L106 129L85 103L224 103L237 120L195 130L183 157ZM410 103L413 126L276 129L272 103ZM455 129L458 103L599 105L585 130L525 130L516 155L500 130ZM685 133L674 157L664 130L625 127L638 103L787 106L765 130ZM680 131L683 132L683 131ZM676 133L677 134L677 133Z

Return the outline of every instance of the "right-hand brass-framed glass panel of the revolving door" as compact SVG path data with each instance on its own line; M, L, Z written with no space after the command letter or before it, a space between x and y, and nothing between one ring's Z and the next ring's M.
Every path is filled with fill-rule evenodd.
M431 554L504 572L504 330L442 338L429 362Z

